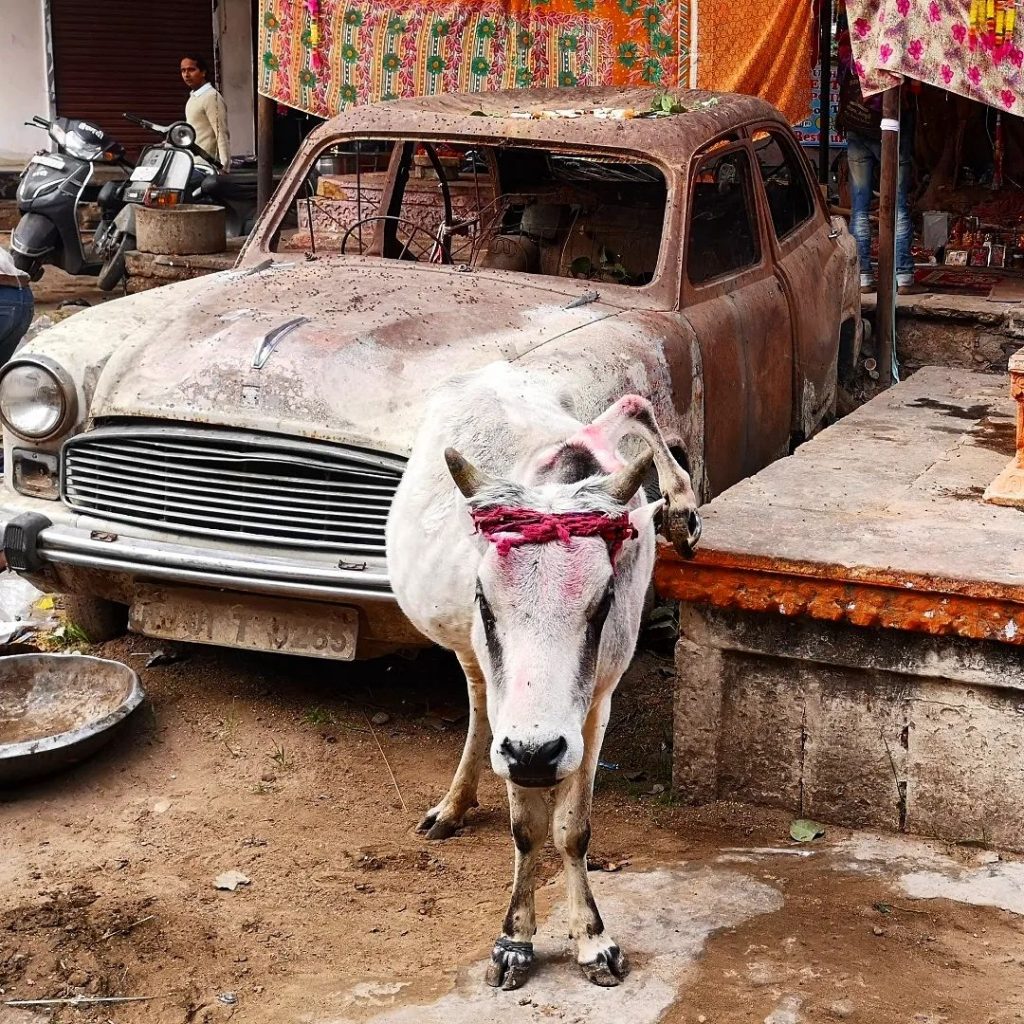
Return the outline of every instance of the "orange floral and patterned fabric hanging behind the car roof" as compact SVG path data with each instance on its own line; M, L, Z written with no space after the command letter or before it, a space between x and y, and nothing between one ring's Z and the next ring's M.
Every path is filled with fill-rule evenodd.
M745 14L735 0L700 0L708 58L699 75L691 3L261 0L259 91L331 117L348 103L443 92L692 84L759 93L803 120L812 45L806 0L773 0ZM780 60L784 30L792 38Z

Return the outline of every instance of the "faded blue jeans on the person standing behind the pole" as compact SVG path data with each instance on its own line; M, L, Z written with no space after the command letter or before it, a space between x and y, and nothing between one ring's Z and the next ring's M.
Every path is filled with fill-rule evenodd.
M910 242L913 228L910 224L910 210L907 205L906 189L910 178L910 158L913 145L913 130L903 125L899 138L899 183L896 190L896 284L913 284L913 257ZM860 257L860 283L871 285L871 223L867 219L867 209L871 204L871 188L874 168L882 166L882 142L864 138L857 132L848 132L846 159L850 167L850 193L853 214L850 230L857 240L857 255Z

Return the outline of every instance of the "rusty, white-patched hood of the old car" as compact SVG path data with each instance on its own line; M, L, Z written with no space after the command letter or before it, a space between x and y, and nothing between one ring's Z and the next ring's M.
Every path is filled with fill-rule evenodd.
M586 283L564 284L371 260L274 264L86 310L46 336L119 339L87 388L93 422L215 423L407 453L433 385L620 311Z

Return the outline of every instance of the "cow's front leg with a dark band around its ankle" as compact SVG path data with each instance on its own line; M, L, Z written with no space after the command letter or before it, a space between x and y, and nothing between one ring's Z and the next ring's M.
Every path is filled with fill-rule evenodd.
M546 790L524 790L513 782L509 782L508 787L512 838L515 840L515 879L502 934L490 953L486 979L493 988L506 989L519 988L534 966L537 861L547 842L551 821Z

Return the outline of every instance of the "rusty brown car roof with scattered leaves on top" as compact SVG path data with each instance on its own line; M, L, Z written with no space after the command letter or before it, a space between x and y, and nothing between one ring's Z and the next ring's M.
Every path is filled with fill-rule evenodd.
M756 96L698 89L672 90L685 110L667 117L599 118L595 110L650 111L664 89L586 87L509 89L446 93L415 99L350 106L325 124L317 135L356 133L376 137L475 135L481 139L522 140L629 150L679 165L710 139L750 121L786 124L770 103ZM580 117L552 117L581 111ZM482 115L482 116L481 116Z

